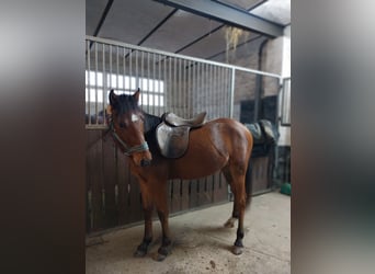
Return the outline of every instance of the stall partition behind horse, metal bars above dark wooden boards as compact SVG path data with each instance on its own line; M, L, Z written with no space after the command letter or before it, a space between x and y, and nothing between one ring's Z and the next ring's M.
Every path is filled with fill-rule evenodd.
M87 36L86 41L87 232L143 219L139 186L129 172L128 159L104 136L111 89L133 94L140 88L140 107L154 115L174 112L189 118L205 111L207 118L214 119L234 117L237 71L281 79L274 73L100 37ZM228 189L223 182L220 173L171 181L171 214L227 202Z

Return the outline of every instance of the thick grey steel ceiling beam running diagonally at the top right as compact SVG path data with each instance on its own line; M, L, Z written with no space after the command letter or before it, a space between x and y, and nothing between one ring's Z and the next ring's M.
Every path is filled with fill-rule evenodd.
M283 35L283 26L254 14L211 0L154 0L201 16L223 22L269 37Z

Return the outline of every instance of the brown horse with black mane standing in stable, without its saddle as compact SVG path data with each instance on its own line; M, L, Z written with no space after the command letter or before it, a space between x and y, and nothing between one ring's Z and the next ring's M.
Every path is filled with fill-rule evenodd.
M252 136L240 123L218 118L190 133L189 148L178 159L160 155L155 129L161 118L143 112L138 106L139 89L133 95L110 92L109 124L115 142L130 158L130 171L138 179L145 213L145 235L135 255L144 256L152 240L152 210L156 206L162 228L162 243L156 260L170 253L172 241L168 225L167 182L169 179L197 179L219 170L235 196L232 216L226 222L234 227L238 219L237 239L232 252L242 253L243 215L247 199L245 176L252 149Z

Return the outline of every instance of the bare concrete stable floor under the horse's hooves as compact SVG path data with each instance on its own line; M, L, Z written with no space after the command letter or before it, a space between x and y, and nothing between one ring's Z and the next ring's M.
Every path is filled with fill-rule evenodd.
M163 261L152 256L160 246L160 225L154 221L154 238L145 258L134 258L144 227L120 229L87 240L86 273L291 273L291 197L277 192L255 196L245 220L245 250L234 255L235 228L223 224L232 203L170 218L174 240Z

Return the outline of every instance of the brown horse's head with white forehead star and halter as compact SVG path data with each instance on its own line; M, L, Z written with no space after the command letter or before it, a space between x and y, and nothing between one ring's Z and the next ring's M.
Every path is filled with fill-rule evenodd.
M133 95L116 95L110 92L110 127L114 139L125 155L137 165L150 164L152 157L145 140L145 117L138 106L139 89Z

